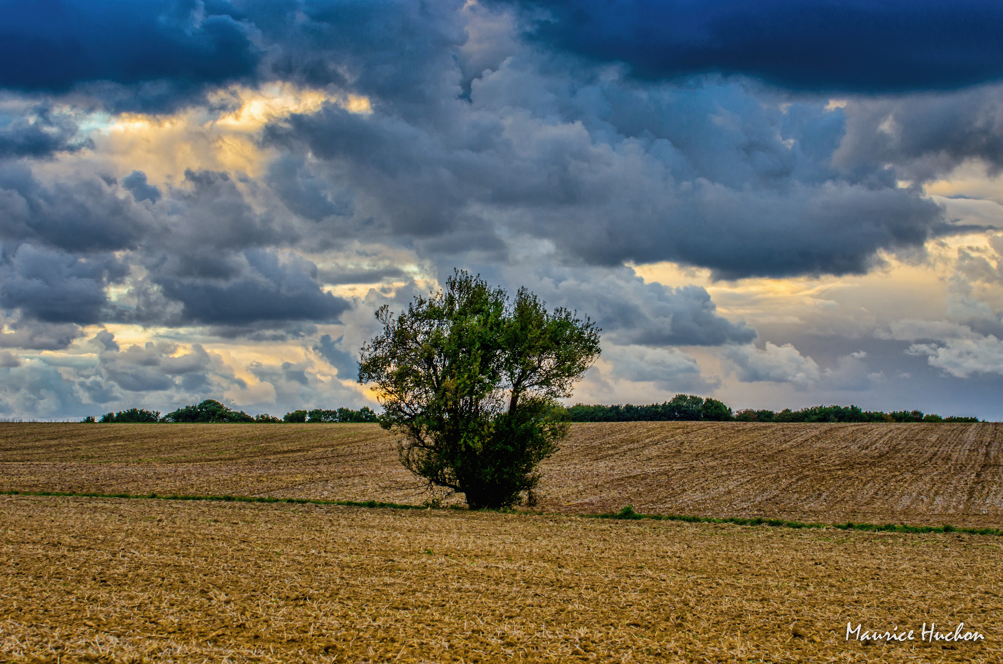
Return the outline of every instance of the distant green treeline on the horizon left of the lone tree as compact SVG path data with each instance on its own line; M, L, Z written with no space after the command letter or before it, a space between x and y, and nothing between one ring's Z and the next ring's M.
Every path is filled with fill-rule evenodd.
M375 422L376 413L368 406L362 406L358 410L351 408L338 408L337 410L294 410L287 412L284 417L275 417L268 413L249 415L243 410L232 410L214 399L206 399L198 405L185 406L169 412L160 417L159 410L143 410L142 408L129 408L118 412L108 412L101 415L99 419L92 415L84 417L85 422Z

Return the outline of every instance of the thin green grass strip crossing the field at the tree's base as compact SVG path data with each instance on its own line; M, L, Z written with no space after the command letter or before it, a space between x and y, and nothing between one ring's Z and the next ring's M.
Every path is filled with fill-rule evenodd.
M79 491L0 491L0 495L54 495L62 497L116 497L133 500L157 500L157 501L213 501L217 503L286 503L292 505L334 505L344 508L382 508L387 510L459 510L465 511L460 506L449 506L444 508L429 507L425 505L404 505L400 503L380 503L378 501L321 501L317 499L282 499L254 495L159 495L157 493L91 493ZM541 515L544 513L517 512L513 510L498 510L484 512L498 512L501 514L519 515ZM745 519L742 517L691 517L687 515L643 515L634 512L634 506L627 506L620 512L606 513L601 515L575 515L586 519L615 519L624 521L678 521L686 524L733 524L735 526L772 526L774 528L792 529L823 529L834 528L841 531L860 531L865 533L964 533L966 535L993 535L1003 536L1003 530L997 528L958 528L956 526L906 526L903 524L886 524L877 526L875 524L805 524L797 521L785 521L782 519L762 519L755 517Z

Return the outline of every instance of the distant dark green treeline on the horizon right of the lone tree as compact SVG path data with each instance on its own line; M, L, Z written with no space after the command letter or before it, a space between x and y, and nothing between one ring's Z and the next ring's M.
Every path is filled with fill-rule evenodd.
M978 422L978 417L941 417L922 410L862 410L858 406L811 406L800 410L745 409L733 412L717 399L693 394L676 394L671 401L650 405L586 405L568 408L573 422L659 422L659 421L739 421L739 422Z

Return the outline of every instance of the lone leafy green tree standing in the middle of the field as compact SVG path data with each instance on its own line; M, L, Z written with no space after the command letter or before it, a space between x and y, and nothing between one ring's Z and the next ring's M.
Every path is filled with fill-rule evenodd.
M525 288L515 299L463 271L418 296L362 347L359 382L375 383L383 428L403 434L403 465L464 493L471 510L517 505L568 433L557 397L599 356L599 328Z

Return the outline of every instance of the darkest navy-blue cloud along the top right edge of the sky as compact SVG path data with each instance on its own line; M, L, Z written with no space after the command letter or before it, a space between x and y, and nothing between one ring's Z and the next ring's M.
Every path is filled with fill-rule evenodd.
M887 92L1003 76L1003 6L994 0L520 4L536 16L540 42L625 62L647 79L716 71L801 90Z

